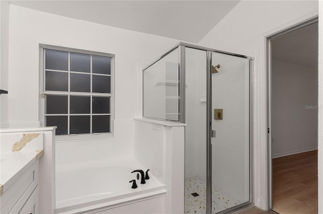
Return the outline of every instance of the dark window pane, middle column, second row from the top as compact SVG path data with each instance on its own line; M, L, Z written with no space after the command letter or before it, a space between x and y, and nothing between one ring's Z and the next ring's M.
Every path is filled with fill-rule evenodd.
M71 91L90 92L90 75L71 73Z

